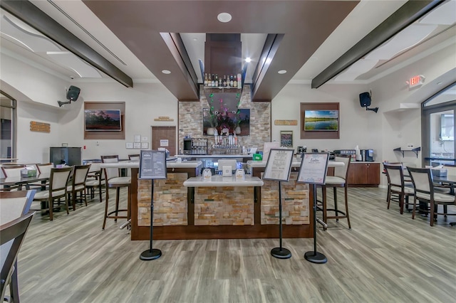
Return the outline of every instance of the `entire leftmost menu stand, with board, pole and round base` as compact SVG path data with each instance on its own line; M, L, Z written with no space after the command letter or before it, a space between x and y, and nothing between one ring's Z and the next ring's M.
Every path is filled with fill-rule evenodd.
M165 151L142 150L140 154L140 180L152 181L150 186L150 239L149 249L141 252L140 260L150 261L162 256L162 251L152 248L154 228L154 179L167 179Z

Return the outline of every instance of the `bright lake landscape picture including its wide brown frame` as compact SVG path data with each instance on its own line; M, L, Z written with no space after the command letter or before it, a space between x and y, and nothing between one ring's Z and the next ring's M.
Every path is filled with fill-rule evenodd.
M300 115L301 139L339 139L338 102L302 102Z

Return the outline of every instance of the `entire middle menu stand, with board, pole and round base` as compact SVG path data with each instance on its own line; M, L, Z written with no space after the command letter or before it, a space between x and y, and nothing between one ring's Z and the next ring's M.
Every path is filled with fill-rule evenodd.
M266 146L266 143L265 143ZM279 181L279 241L278 248L271 250L271 255L279 259L288 259L291 252L282 247L282 186L281 181L288 181L293 161L293 149L270 149L263 179Z

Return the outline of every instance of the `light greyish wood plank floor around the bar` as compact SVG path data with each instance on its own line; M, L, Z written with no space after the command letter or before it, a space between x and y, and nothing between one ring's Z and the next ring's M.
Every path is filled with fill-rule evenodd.
M53 222L36 214L19 254L21 301L456 302L456 227L387 210L385 196L349 188L352 230L318 228L323 265L304 260L313 239L284 239L288 260L270 255L278 239L161 240L162 257L142 261L149 242L131 241L122 222L101 230L98 200Z

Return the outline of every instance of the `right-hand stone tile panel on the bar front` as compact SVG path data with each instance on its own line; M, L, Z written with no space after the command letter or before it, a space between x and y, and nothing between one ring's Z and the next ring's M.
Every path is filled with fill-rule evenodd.
M289 181L281 182L282 224L310 223L309 185L296 183L297 175L291 172ZM264 180L261 186L261 224L279 224L279 181Z

